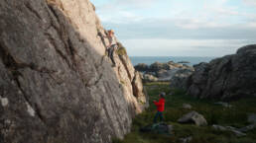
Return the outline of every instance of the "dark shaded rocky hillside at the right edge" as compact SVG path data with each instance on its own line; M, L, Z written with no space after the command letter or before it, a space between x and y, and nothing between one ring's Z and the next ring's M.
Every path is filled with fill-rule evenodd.
M256 96L256 45L247 45L236 54L194 66L188 93L194 97L230 100Z

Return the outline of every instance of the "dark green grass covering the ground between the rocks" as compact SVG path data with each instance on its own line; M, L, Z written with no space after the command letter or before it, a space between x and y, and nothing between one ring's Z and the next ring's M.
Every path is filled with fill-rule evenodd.
M237 137L229 131L219 131L211 127L212 124L243 127L248 125L247 113L256 112L256 99L242 99L230 102L232 107L214 105L217 101L198 100L186 96L184 91L171 91L168 82L146 83L150 107L138 114L134 120L131 132L123 140L114 139L113 143L179 143L180 138L192 136L191 143L256 143L256 129L247 133L245 137ZM160 92L166 92L165 121L174 125L171 136L141 133L139 128L152 123L156 107L153 101L158 100ZM192 105L192 109L184 109L183 104ZM195 110L202 114L208 126L180 124L177 122L183 114Z

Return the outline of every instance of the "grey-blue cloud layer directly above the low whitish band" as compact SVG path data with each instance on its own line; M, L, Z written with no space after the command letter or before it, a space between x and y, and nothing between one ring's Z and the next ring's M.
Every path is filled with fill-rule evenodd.
M129 24L106 24L106 28L115 29L117 36L122 39L255 39L254 26L254 22L222 25L214 22L193 22L190 19L144 19Z

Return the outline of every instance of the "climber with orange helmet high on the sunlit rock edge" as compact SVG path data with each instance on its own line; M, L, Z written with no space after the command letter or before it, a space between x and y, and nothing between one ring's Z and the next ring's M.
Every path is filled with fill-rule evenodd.
M112 60L113 66L115 66L114 51L117 49L118 46L114 36L114 31L113 30L107 31L106 37L109 39L109 44L107 46L108 57Z

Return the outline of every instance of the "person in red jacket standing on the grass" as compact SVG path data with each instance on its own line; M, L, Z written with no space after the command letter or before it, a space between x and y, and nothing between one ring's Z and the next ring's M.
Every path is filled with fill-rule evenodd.
M154 101L154 104L158 109L158 112L154 117L154 123L157 123L158 117L160 117L160 121L163 121L163 111L165 110L165 102L166 102L165 96L166 96L166 93L163 92L159 95L160 97L159 101L158 102Z

